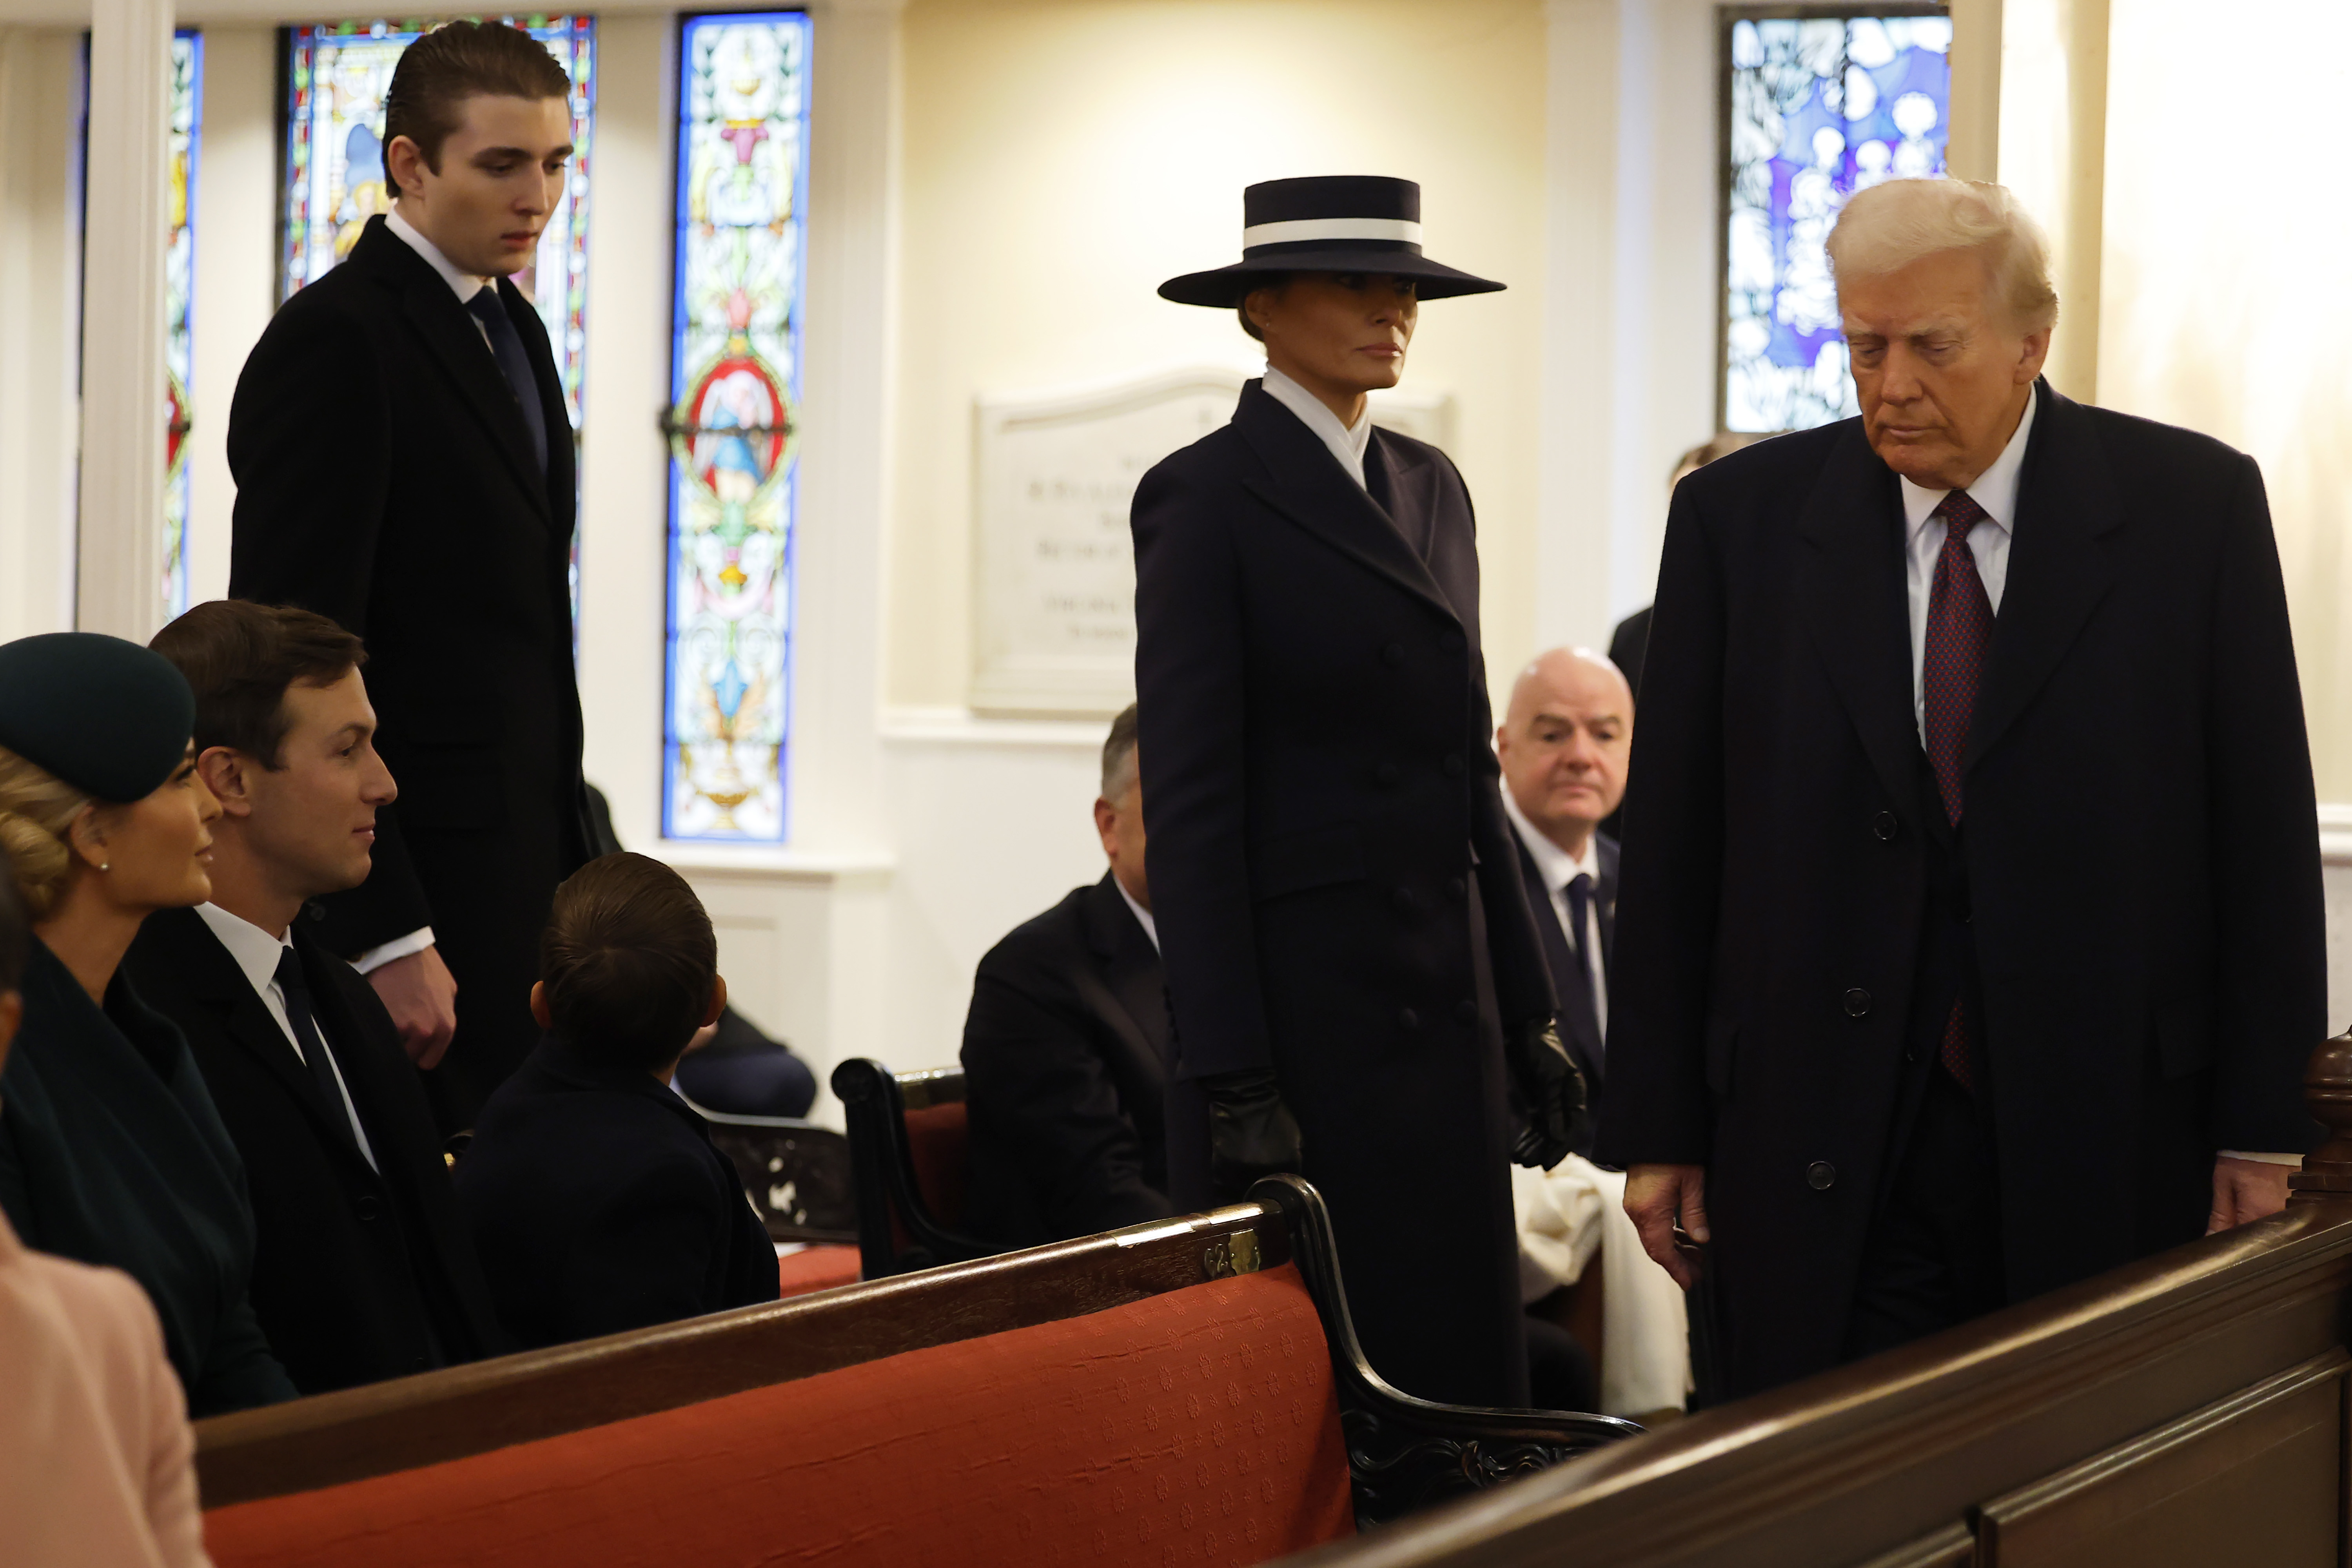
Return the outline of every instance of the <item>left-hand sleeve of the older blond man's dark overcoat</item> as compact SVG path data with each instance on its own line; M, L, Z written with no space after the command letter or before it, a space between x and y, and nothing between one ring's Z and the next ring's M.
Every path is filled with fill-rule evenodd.
M1705 1164L1708 983L1724 858L1724 578L1675 489L1625 785L1609 1098L1595 1159Z

